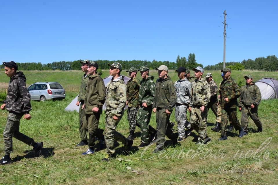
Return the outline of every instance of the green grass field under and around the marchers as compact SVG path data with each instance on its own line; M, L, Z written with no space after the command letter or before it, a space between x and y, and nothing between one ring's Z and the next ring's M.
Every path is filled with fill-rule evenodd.
M35 141L43 141L43 156L34 158L32 147L14 139L12 164L0 166L0 184L276 184L278 179L278 99L261 101L259 117L263 132L256 133L256 126L249 120L251 129L248 135L238 138L238 132L228 135L228 140L218 141L220 133L212 132L215 116L209 111L207 134L211 142L204 147L196 146L197 133L181 142L176 148L168 147L166 153L151 153L155 145L138 149L140 130L136 128L131 153L123 151L122 143L116 148L116 158L110 162L100 162L105 151L100 150L89 156L81 153L87 146L76 147L80 142L78 132L78 113L66 112L64 108L77 95L81 71L23 71L27 84L55 81L64 86L66 99L62 101L31 101L32 119L21 120L20 131ZM213 74L220 83L220 71L205 71ZM150 72L157 78L155 70ZM254 80L263 77L278 79L278 72L232 71L237 81L244 75L252 74ZM103 71L102 77L108 75ZM122 75L127 75L122 72ZM177 74L170 71L173 81ZM191 71L191 75L193 72ZM0 90L8 85L9 78L1 71ZM0 133L6 125L8 112L0 111ZM237 117L240 120L241 113ZM175 122L174 114L171 121ZM104 128L104 114L100 117ZM156 127L155 114L150 125ZM117 131L129 135L127 115L123 116ZM177 126L174 126L177 129ZM167 140L166 145L171 141ZM0 155L4 155L3 140L0 142ZM1 156L1 157L2 157Z

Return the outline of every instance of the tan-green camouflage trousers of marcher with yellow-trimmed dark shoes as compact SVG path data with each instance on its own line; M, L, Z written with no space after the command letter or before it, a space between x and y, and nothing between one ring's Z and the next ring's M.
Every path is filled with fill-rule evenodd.
M122 111L122 115L124 111ZM120 141L122 144L127 143L125 136L116 131L116 127L120 122L122 115L118 120L114 120L113 116L115 115L115 110L105 111L105 131L104 139L106 143L106 153L115 153L114 141Z

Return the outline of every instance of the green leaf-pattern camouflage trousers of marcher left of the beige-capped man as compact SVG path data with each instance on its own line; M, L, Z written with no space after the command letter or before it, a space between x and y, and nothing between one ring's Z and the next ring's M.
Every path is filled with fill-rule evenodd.
M150 136L155 135L156 130L149 125L151 120L152 107L140 106L138 109L137 124L141 128L141 142L148 144L150 143Z

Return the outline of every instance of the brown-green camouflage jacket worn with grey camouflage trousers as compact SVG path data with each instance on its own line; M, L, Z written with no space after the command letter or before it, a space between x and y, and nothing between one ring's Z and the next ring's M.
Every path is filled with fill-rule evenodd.
M127 101L129 107L139 107L138 95L140 80L134 77L127 82Z

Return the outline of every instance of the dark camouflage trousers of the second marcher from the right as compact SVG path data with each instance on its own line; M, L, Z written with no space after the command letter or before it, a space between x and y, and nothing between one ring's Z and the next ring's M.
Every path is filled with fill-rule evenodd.
M232 125L234 126L235 130L240 130L240 124L237 119L237 108L232 109L221 109L221 136L227 135L227 123L228 123L228 116L229 119L231 117Z

